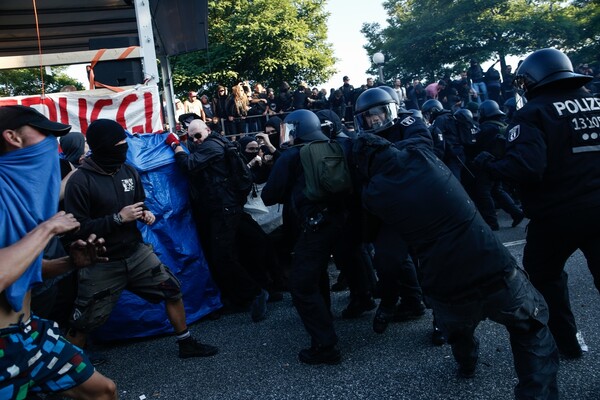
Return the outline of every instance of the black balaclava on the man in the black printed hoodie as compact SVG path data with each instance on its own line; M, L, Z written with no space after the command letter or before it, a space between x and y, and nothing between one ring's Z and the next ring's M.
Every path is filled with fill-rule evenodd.
M92 150L91 159L104 171L113 173L119 170L127 159L127 143L115 146L127 138L125 130L110 119L97 119L86 132L87 142Z

